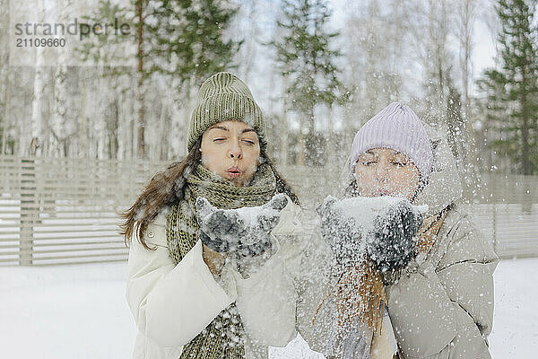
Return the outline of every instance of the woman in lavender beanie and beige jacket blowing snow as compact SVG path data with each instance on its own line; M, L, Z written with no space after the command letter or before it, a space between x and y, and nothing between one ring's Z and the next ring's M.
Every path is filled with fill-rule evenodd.
M396 197L395 205L386 216L377 217L367 239L358 238L354 228L359 224L338 219L339 201L325 200L318 212L334 257L351 248L350 242L362 243L362 250L346 262L355 265L343 266L344 272L354 270L355 275L344 273L339 290L362 288L362 303L357 304L361 308L368 307L364 302L374 302L377 311L382 303L389 317L382 328L392 328L388 337L394 332L395 338L385 357L396 352L395 358L490 358L492 274L498 258L458 204L462 188L444 136L423 124L408 106L393 102L360 128L350 158L352 180L346 196ZM413 209L419 205L428 206L422 215ZM346 253L350 256L349 250ZM350 308L347 305L345 311ZM360 313L362 329L355 342L368 338L371 351L338 357L378 354L373 349L376 336L371 337L376 327L366 325L368 310Z

